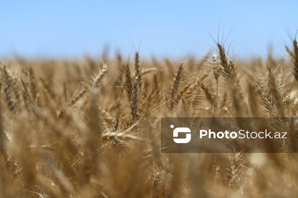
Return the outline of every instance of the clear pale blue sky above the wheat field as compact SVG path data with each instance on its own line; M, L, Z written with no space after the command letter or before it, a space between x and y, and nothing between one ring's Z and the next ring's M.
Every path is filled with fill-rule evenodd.
M266 55L269 45L282 54L297 10L297 0L1 0L0 57L97 56L106 45L124 56L202 55L216 47L208 32L217 39L219 24L238 56Z

